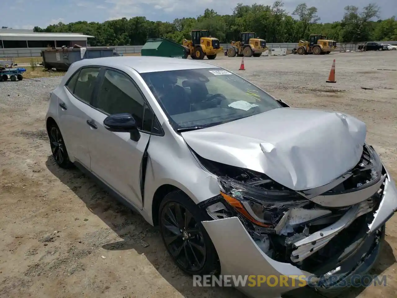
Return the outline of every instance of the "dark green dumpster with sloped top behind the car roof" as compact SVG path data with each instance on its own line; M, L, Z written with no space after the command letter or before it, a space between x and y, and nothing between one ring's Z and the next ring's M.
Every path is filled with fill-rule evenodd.
M188 56L187 49L165 38L150 38L146 40L141 49L141 56L160 56L172 58L184 58Z

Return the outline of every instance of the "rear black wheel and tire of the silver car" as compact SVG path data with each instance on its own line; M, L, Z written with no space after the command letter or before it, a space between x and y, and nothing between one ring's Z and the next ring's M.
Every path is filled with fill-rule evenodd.
M62 137L59 127L52 123L48 127L48 138L50 139L50 146L52 157L58 166L61 168L70 168L73 163L69 160L69 155L67 154L66 145L64 138Z

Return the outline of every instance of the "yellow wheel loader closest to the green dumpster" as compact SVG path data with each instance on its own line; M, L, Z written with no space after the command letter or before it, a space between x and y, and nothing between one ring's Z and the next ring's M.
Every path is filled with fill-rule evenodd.
M192 30L192 40L183 40L182 45L186 48L187 55L192 59L215 59L216 55L223 52L219 39L210 36L208 30Z

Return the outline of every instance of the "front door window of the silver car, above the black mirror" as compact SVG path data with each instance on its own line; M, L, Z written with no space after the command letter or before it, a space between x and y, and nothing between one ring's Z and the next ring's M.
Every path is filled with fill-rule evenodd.
M106 70L100 87L97 108L112 115L131 114L142 128L144 100L135 84L126 75Z

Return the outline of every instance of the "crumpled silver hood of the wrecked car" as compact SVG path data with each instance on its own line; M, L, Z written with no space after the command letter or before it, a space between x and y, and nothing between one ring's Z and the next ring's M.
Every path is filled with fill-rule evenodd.
M338 112L288 107L182 137L201 157L264 173L298 191L328 184L353 168L366 125Z

